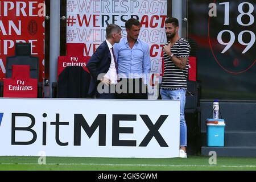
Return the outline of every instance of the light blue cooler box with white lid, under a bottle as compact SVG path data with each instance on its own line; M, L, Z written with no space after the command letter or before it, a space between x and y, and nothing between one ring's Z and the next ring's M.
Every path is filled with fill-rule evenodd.
M224 119L207 119L207 146L223 147L224 146Z

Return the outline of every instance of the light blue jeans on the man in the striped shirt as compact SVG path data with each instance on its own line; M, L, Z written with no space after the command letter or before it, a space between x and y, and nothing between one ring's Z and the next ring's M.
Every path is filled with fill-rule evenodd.
M185 88L177 90L160 89L162 100L180 100L180 146L187 146L187 125L184 115L186 90Z

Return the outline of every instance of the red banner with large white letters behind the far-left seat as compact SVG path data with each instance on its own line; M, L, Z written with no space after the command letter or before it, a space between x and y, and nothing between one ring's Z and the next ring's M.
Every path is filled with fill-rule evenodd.
M16 42L31 43L31 56L39 57L39 81L44 78L44 1L0 1L0 81L6 57L15 55Z

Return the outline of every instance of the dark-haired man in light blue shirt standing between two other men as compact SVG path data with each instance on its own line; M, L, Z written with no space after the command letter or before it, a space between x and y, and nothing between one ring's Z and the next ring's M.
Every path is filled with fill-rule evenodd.
M147 99L150 49L146 42L138 39L141 24L137 19L127 20L125 28L127 37L114 45L120 79L118 98Z

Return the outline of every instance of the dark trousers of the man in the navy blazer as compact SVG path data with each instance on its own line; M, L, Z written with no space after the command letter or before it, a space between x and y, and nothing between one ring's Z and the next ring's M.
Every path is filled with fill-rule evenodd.
M96 88L96 98L110 98L115 99L115 84L111 85L102 85L101 88Z

